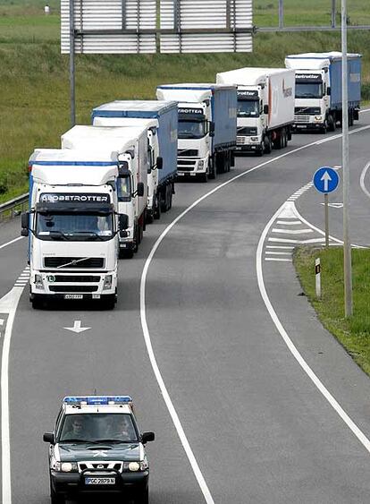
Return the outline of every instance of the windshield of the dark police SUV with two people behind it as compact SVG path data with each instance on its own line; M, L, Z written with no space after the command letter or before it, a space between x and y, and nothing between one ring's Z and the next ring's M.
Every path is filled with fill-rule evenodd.
M130 414L66 414L58 442L137 442Z

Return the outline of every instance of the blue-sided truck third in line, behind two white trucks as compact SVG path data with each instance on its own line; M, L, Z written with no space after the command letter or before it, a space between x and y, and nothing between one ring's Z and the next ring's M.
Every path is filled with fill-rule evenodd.
M116 100L94 108L92 122L97 125L122 125L122 119L156 121L149 128L151 174L148 220L159 218L161 211L172 207L174 181L177 175L177 104L173 101ZM112 123L113 122L113 123Z

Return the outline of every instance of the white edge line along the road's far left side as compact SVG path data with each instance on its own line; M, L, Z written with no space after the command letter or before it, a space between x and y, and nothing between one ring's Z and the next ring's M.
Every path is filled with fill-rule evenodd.
M10 428L9 428L9 352L13 332L13 322L22 287L13 289L0 300L0 312L8 313L4 333L3 354L1 357L1 454L2 454L2 503L12 504L12 480L10 460Z

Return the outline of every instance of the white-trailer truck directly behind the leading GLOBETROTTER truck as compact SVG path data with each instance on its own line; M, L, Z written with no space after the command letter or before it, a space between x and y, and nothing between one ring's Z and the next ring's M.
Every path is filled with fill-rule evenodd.
M127 235L120 237L120 252L122 257L131 258L138 251L146 223L149 169L147 126L74 126L63 133L62 148L98 148L118 152L118 209L120 214L128 216Z

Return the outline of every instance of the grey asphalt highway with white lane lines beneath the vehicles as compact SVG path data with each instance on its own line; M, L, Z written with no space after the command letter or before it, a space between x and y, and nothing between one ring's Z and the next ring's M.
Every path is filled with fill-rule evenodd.
M369 133L364 113L350 136L350 235L362 245ZM42 434L65 395L95 391L132 395L141 429L156 431L151 504L368 501L370 381L316 320L291 262L296 244L323 241L309 184L321 166L341 172L335 133L177 184L172 210L121 261L113 312L32 310L26 240L5 245L19 219L0 227L3 504L49 502ZM341 189L330 200L341 240ZM65 329L75 320L89 329Z

